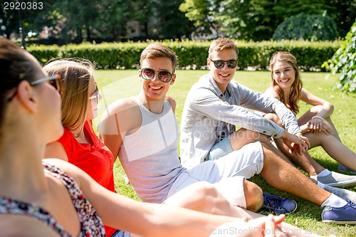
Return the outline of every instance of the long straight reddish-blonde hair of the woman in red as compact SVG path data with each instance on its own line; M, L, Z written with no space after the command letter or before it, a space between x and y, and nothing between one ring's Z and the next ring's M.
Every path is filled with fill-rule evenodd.
M48 75L61 74L63 127L70 131L83 127L88 110L88 87L95 65L83 58L55 59L43 70Z

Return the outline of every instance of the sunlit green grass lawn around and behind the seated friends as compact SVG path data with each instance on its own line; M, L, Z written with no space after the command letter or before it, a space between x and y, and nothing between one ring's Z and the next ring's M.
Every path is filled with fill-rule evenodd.
M191 86L199 79L201 75L208 73L207 70L178 70L177 80L169 89L171 95L177 101L176 117L180 125L182 110L185 97ZM235 80L239 83L248 86L249 88L264 92L270 83L271 73L269 72L248 72L237 71ZM140 83L137 78L137 70L98 70L95 72L95 80L100 88L100 93L103 95L103 100L100 101L100 111L98 119L94 121L94 125L98 125L100 117L105 110L106 105L120 99L135 96L140 92ZM355 103L356 95L347 95L333 90L337 82L337 78L331 77L330 73L302 73L303 87L311 93L318 95L320 98L332 102L335 110L332 116L335 127L339 132L342 142L356 151L356 113ZM305 112L310 107L305 104L300 104L300 113ZM310 150L310 155L314 157L320 164L330 170L337 171L337 162L331 159L322 148ZM130 185L125 184L122 179L124 172L120 166L120 162L115 163L115 185L117 192L138 200L135 191ZM356 227L354 226L337 226L321 222L322 208L303 199L299 199L285 192L278 191L269 186L266 181L260 176L253 177L251 181L256 182L262 187L263 191L271 194L285 196L294 199L298 203L298 209L293 214L286 217L286 222L291 223L308 231L321 235L335 234L336 236L356 236ZM350 189L356 191L356 188ZM263 213L266 214L266 213Z

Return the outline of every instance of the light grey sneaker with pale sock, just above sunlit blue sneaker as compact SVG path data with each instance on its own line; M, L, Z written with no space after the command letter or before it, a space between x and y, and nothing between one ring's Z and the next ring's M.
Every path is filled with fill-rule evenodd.
M331 172L331 174L325 177L311 176L310 178L320 181L322 184L337 186L339 188L356 186L356 176L339 174L336 172Z

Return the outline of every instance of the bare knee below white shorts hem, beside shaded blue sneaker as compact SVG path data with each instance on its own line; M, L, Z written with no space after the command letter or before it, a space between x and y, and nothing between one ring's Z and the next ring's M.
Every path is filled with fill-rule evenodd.
M258 211L263 204L262 189L251 181L244 180L244 194L246 199L246 209Z

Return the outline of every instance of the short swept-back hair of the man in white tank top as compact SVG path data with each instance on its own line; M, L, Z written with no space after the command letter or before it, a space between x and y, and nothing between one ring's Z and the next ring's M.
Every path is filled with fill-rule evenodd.
M152 43L147 46L141 53L140 57L140 66L142 66L142 61L146 58L169 58L172 60L172 67L174 71L177 67L178 56L174 51L172 51L167 46L162 45L161 43Z

